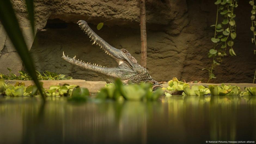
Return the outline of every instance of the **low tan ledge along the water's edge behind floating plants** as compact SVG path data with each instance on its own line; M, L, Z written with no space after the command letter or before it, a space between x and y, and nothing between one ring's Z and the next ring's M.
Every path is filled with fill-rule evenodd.
M24 82L26 86L34 84L33 81L20 81L20 80L5 80L5 83L7 84L15 84L16 82ZM45 88L49 88L51 85L63 85L63 84L70 84L70 85L79 85L80 87L86 87L89 89L91 93L97 93L100 88L105 87L106 82L105 81L86 81L82 79L71 79L71 80L56 80L56 81L51 81L51 80L46 80L46 81L41 81L44 83ZM249 84L249 83L225 83L225 85L237 85L240 87L242 90L244 87L256 87L256 84ZM163 87L168 87L168 84L162 84ZM192 85L221 85L221 84L208 84L208 83L191 83L190 86Z

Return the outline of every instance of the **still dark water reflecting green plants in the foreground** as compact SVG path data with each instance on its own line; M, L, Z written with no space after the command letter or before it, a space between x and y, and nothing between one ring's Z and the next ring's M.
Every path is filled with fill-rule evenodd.
M157 102L0 98L0 143L255 141L256 97L173 96Z

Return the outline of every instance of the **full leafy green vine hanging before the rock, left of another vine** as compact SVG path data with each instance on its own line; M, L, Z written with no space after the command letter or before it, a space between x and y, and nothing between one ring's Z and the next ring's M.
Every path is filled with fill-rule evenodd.
M231 56L236 56L233 50L234 39L236 38L236 22L234 18L234 8L238 7L238 0L217 0L214 4L217 5L216 22L214 25L215 32L211 41L214 43L212 49L209 50L208 57L212 58L212 65L209 69L209 79L216 78L213 69L220 65L222 58L227 56L226 51L229 49ZM221 23L218 23L218 16L221 15Z

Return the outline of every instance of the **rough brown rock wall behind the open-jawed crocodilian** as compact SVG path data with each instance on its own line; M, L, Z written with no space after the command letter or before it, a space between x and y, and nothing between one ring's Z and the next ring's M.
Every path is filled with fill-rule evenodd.
M14 0L13 4L21 26L29 27L23 1ZM215 23L216 5L210 0L148 0L146 6L147 67L151 76L157 81L167 81L176 76L186 81L206 82L208 72L201 69L211 64L207 53L212 48L210 39L214 35L214 29L210 25ZM237 56L223 59L224 64L218 66L214 72L218 78L212 82L252 82L256 56L253 55L254 45L250 42L250 10L247 1L239 1L239 7L235 11L237 39L234 50ZM37 29L46 29L37 33L38 41L31 47L39 71L49 70L79 79L103 80L96 73L63 61L62 51L71 56L76 55L84 61L109 67L117 66L111 57L105 55L96 45L91 45L90 39L76 24L80 19L86 20L109 44L116 48L125 48L140 61L137 0L35 0L35 16ZM109 21L104 23L101 30L97 30L96 25L105 20ZM0 51L11 54L8 51L11 46L7 47L6 42L1 42L4 39L2 35ZM11 63L20 62L16 57L9 57L10 59L0 56L0 71L10 67ZM13 69L20 69L19 66L22 66L21 63Z

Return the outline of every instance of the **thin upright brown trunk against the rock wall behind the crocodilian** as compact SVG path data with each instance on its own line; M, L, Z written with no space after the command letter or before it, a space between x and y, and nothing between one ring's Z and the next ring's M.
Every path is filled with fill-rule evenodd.
M145 0L140 1L141 11L141 66L147 67L147 31L146 31L146 7Z

